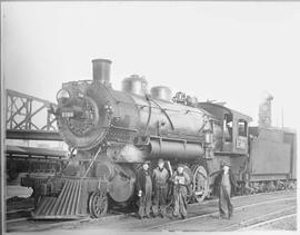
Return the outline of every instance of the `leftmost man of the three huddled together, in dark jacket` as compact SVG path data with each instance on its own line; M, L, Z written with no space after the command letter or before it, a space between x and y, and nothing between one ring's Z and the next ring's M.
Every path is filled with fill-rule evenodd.
M141 169L137 175L137 189L139 202L139 217L142 219L144 216L150 218L151 196L152 196L152 179L149 170L150 161L144 161Z

